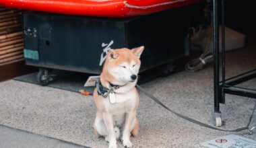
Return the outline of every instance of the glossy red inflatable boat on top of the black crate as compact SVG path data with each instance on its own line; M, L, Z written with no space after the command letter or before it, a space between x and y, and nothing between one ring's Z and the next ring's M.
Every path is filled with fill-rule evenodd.
M181 7L197 1L200 0L1 0L0 5L71 15L131 17Z

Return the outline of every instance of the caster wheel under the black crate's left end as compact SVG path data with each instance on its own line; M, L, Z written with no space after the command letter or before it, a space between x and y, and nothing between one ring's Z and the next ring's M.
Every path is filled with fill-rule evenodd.
M49 69L39 69L36 79L40 85L45 86L53 81L53 75L49 75L49 72Z

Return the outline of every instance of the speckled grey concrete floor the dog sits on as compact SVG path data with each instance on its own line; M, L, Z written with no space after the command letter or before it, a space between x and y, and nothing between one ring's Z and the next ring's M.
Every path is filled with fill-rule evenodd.
M254 47L247 46L227 54L228 77L256 68ZM208 65L196 73L182 71L141 86L176 112L212 125L212 78L213 68ZM256 88L255 83L253 79L241 85ZM93 133L96 107L91 96L15 80L0 83L0 91L0 124L88 147L107 147L108 143ZM183 120L145 94L139 94L140 132L137 138L131 138L134 147L201 147L199 143L230 134ZM221 104L220 108L223 119L227 120L222 128L246 126L255 101L227 95L226 104ZM254 115L251 126L255 124ZM235 134L256 140L256 133ZM118 145L122 147L120 141Z

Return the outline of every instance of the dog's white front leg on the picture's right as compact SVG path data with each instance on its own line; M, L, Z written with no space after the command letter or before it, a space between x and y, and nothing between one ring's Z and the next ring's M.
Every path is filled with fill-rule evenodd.
M123 130L123 137L122 137L122 141L123 141L123 146L124 147L132 147L133 143L131 143L130 141L130 137L131 137L131 130L133 129L133 122L136 116L136 112L129 112L126 114L126 120L125 120L125 128Z

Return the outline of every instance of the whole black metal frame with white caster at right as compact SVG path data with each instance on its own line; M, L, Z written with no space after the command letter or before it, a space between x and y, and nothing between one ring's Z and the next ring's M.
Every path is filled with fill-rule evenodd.
M245 87L237 87L235 85L243 83L256 77L256 69L241 75L236 75L226 79L225 76L225 28L224 28L224 0L213 0L213 11L214 11L214 121L216 118L220 118L220 103L225 103L225 94L232 94L236 96L244 96L249 98L256 98L256 90ZM221 14L219 15L218 8L221 6ZM220 16L221 18L219 18ZM220 81L220 66L219 66L219 19L221 19L222 28L222 81ZM217 115L217 116L216 116ZM216 126L221 126L222 122L216 123Z

